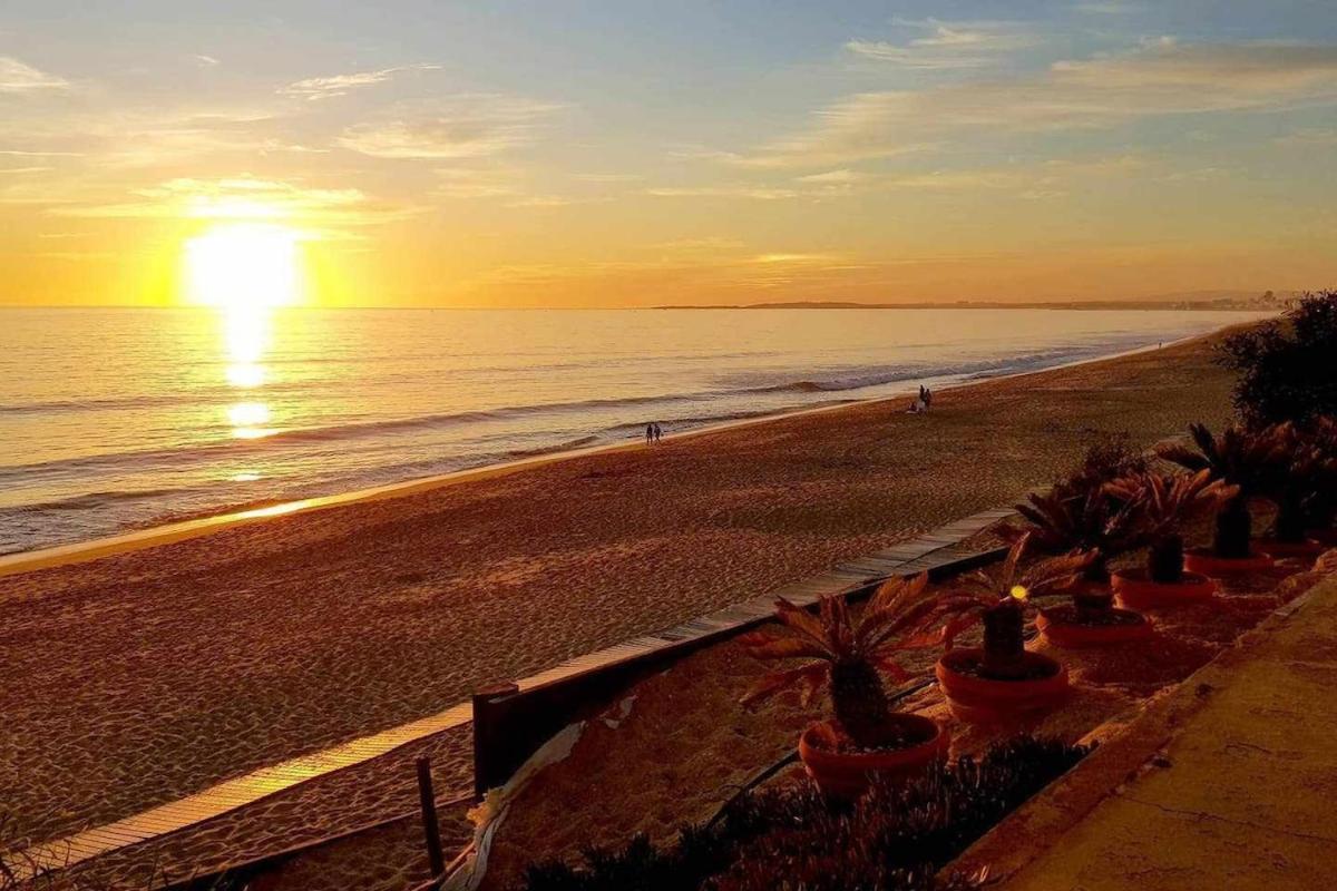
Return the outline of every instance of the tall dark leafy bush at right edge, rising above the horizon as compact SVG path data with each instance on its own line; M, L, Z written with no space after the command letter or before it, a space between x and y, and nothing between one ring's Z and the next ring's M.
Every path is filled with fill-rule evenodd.
M1337 414L1337 291L1305 294L1280 321L1234 334L1221 363L1238 373L1235 411L1249 426L1308 425Z

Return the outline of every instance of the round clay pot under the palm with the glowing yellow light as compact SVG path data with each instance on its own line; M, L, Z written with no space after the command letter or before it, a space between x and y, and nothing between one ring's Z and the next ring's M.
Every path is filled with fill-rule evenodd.
M1025 653L1025 661L1040 677L999 680L979 677L975 668L984 660L979 648L953 649L937 660L937 685L947 696L952 715L972 724L991 724L1044 712L1068 695L1068 672L1043 653Z

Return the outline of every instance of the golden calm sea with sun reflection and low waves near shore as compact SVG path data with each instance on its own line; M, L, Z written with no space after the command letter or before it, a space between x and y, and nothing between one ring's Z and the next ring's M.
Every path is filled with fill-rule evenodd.
M0 310L0 553L919 382L1250 313Z

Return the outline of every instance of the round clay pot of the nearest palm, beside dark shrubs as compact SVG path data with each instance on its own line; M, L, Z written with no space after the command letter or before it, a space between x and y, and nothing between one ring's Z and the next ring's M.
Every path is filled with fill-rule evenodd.
M878 752L837 752L826 740L834 736L829 724L813 724L798 737L798 757L824 793L857 799L873 776L909 781L923 775L935 761L947 760L951 737L937 721L919 715L892 713L890 723L913 739L923 739L906 748Z

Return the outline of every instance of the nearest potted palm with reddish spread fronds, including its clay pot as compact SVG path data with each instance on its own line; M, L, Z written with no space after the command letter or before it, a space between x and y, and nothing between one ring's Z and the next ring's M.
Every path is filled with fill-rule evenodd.
M927 574L892 578L857 618L844 596L824 597L816 616L782 598L775 618L787 633L763 631L739 639L757 659L809 659L767 675L743 704L794 688L806 704L829 691L834 720L809 725L798 740L808 775L828 795L857 797L873 775L910 779L947 757L947 731L927 717L894 711L882 681L884 673L909 677L898 655L935 640L923 632L937 609L927 586Z

